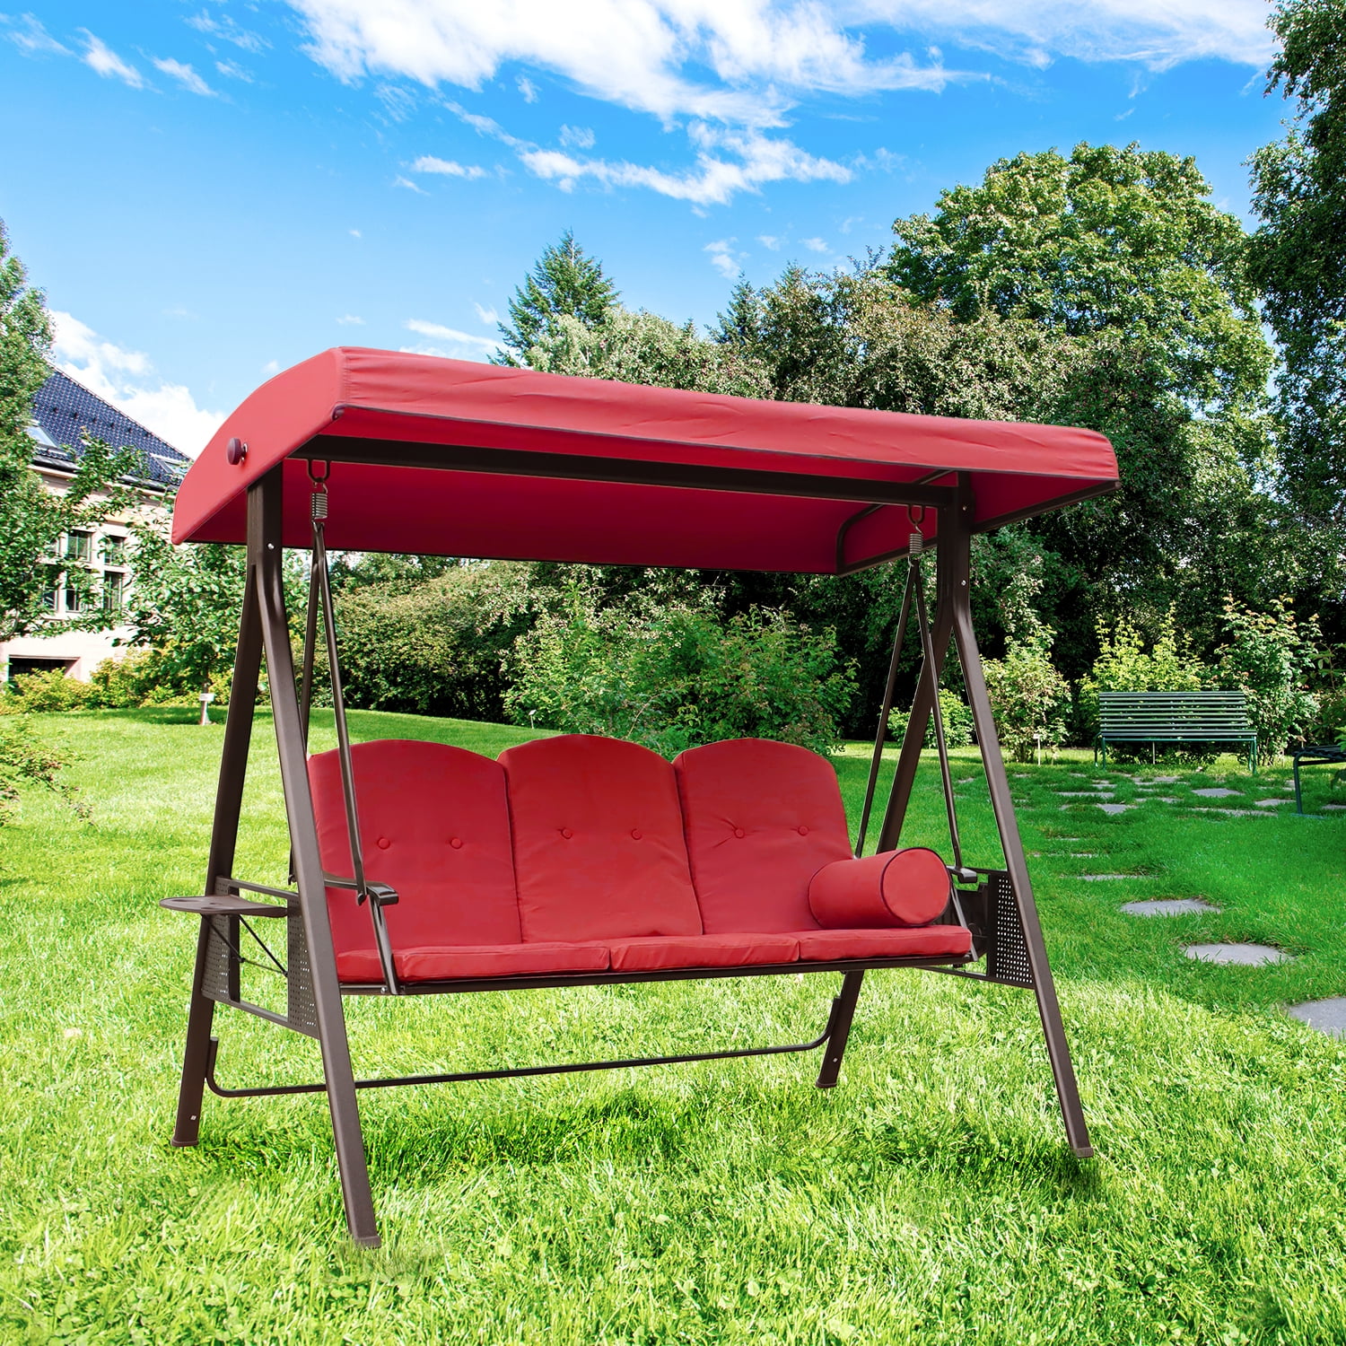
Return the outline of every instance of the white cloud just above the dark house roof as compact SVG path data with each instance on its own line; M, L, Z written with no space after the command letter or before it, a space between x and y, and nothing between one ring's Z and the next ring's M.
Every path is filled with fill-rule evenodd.
M155 376L149 357L105 341L70 314L54 311L51 354L58 369L92 393L195 458L225 419L197 405L191 390Z

